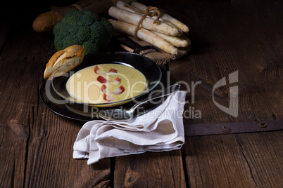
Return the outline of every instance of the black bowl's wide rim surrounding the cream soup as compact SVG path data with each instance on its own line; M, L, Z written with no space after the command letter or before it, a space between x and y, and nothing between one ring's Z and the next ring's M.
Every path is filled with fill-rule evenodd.
M147 87L144 90L144 93L141 93L135 96L134 98L139 98L140 96L150 92L158 85L159 81L161 80L162 74L160 67L149 58L146 58L142 55L137 55L135 53L101 53L99 55L88 55L84 58L82 64L80 66L77 66L71 72L63 74L61 76L54 76L51 79L52 87L54 88L56 93L61 96L61 98L69 100L70 102L83 104L84 102L78 102L75 98L69 95L68 90L66 88L66 83L68 82L68 79L70 79L70 76L75 74L75 72L80 71L85 67L109 63L132 67L134 69L137 69L144 75L144 77L146 78ZM134 98L127 98L125 100L120 100L117 102L106 102L99 104L84 103L84 105L91 105L96 107L114 107L126 102L130 102Z

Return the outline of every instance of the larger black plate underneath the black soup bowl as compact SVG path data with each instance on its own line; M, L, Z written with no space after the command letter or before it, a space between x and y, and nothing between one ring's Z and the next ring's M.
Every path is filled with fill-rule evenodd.
M103 58L103 56L105 57L105 55L106 54L97 55L96 56L97 60L99 60L99 58ZM130 58L129 58L129 55L130 55ZM116 58L116 60L120 62L122 62L122 58L124 58L124 60L125 58L127 58L127 60L135 60L135 61L141 61L144 58L148 59L142 55L137 55L134 53L111 53L111 54L106 55L107 59L111 58L108 56L112 56L113 58L117 56L118 58ZM134 58L134 57L137 57L137 58ZM139 63L142 66L143 62L141 61ZM85 65L82 64L80 66L85 66ZM156 93L159 90L167 87L169 84L167 83L168 82L167 72L165 72L164 69L161 69L161 72L162 72L161 82L158 84L158 86L156 86L156 88L154 88L151 91L151 93L152 92ZM152 72L151 74L154 74L154 73ZM141 97L137 98L137 100L142 100L143 98L148 97L148 95L151 95L151 93L146 93L145 95L142 95ZM105 107L103 108L89 107L88 105L75 104L73 102L69 102L68 100L64 100L59 95L57 95L57 93L54 91L54 89L51 86L50 80L43 81L42 86L40 87L40 90L39 90L39 95L44 105L47 108L49 108L52 112L60 116L64 116L68 119L73 119L77 121L91 121L91 120L98 120L98 119L101 120L101 118L99 117L99 112L101 111L101 109L108 109ZM165 101L165 98L161 98L154 102L148 102L145 105L142 105L142 107L136 110L134 116L140 116L148 112L149 110L156 108L158 105L161 104L161 102ZM126 103L125 105L120 105L117 107L110 107L110 108L130 109L134 104L135 102L132 101L132 102Z

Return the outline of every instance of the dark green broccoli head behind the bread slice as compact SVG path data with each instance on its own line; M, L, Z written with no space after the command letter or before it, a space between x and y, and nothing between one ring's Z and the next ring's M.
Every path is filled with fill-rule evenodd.
M86 48L86 55L96 54L110 43L114 29L106 18L92 11L70 11L53 29L56 49L78 44Z

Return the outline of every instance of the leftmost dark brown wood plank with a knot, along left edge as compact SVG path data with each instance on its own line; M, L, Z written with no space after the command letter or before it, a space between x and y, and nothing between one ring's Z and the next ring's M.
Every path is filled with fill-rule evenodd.
M11 28L8 30L12 31ZM23 187L30 121L33 106L37 104L38 78L35 77L32 80L31 76L23 74L25 71L27 74L32 72L32 61L20 59L18 56L14 57L15 60L7 58L5 54L10 53L10 50L6 47L13 41L13 34L10 33L7 36L5 46L1 49L0 59L0 148L1 151L5 151L0 158L1 163L4 164L1 168L1 177L4 177L1 178L1 187ZM16 44L15 41L13 45L17 46ZM13 50L21 51L20 48L15 47ZM31 93L31 90L34 92Z

